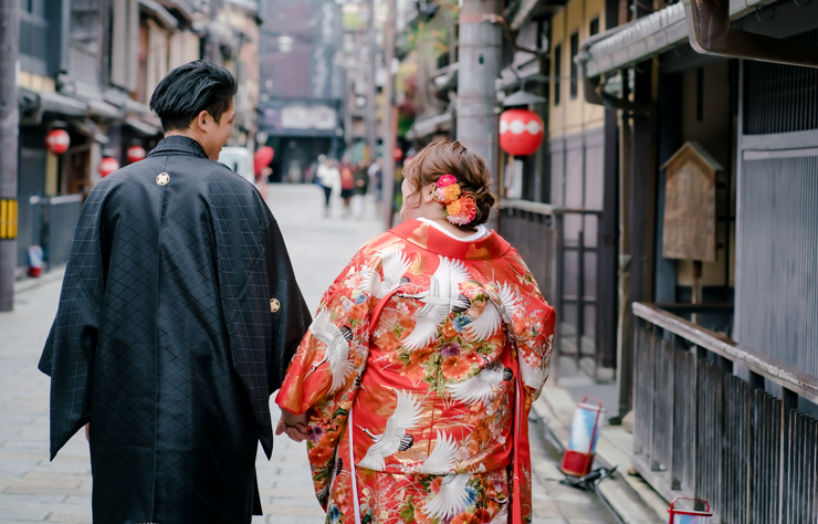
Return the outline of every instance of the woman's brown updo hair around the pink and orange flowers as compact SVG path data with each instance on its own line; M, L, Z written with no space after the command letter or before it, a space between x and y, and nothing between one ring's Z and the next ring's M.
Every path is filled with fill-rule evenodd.
M436 184L443 175L457 178L461 191L471 193L478 207L474 220L458 227L470 229L489 220L496 199L491 192L492 176L483 157L459 142L436 142L421 149L403 171L403 177L415 185L413 195L417 196L420 196L423 187Z

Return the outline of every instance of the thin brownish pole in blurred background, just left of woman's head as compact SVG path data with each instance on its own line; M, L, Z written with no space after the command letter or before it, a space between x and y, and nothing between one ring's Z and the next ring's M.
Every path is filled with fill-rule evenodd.
M387 0L388 9L386 25L384 27L384 65L386 67L386 85L384 86L384 166L381 174L381 199L384 205L384 223L386 229L392 229L392 202L395 201L395 144L398 134L398 108L395 106L395 10L396 0Z

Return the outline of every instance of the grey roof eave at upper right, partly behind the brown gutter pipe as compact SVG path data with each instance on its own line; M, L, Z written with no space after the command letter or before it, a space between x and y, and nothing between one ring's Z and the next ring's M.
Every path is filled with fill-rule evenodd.
M756 9L757 6L770 3L769 0L731 0L730 15L735 20ZM606 36L606 33L610 33ZM589 77L627 67L635 63L663 53L689 40L688 25L684 19L684 6L674 3L652 14L640 18L627 27L614 28L597 36L592 43L577 56L585 63Z

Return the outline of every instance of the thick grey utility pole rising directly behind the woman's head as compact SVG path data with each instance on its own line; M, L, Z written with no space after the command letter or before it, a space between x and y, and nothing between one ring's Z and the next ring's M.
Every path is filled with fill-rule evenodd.
M500 75L503 12L500 0L463 0L460 10L458 140L485 158L492 175L497 124L495 78ZM499 193L497 177L493 192Z

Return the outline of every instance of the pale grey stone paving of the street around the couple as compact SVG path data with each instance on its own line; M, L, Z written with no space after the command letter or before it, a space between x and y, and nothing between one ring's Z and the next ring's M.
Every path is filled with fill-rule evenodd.
M371 202L363 219L342 220L337 202L325 219L322 198L317 186L268 189L311 310L360 244L381 230ZM87 523L92 481L84 434L49 462L49 379L36 363L56 312L61 280L43 280L18 293L13 313L0 314L0 523ZM277 421L277 409L273 411ZM534 425L532 447L535 524L616 522L594 495L558 484L562 474ZM254 523L324 522L305 444L277 438L270 462L259 450L258 473L265 516Z

